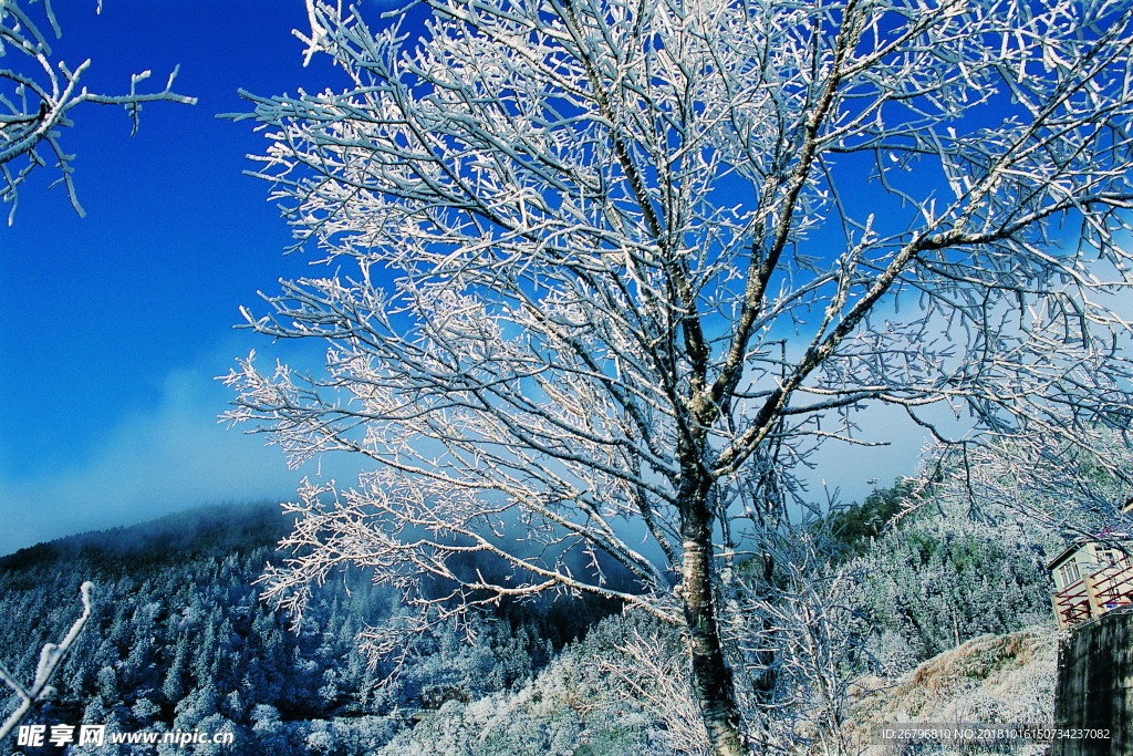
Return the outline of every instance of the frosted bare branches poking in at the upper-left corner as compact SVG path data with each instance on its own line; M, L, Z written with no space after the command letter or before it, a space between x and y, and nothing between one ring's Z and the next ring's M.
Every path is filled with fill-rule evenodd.
M101 0L97 8L102 8ZM51 0L0 0L0 199L11 203L9 224L19 185L49 162L59 170L58 182L67 188L75 212L84 214L71 180L75 155L65 152L59 141L61 129L71 126L70 111L78 105L121 105L137 131L143 103L196 102L173 92L176 69L156 92L138 90L150 71L130 78L128 94L91 92L83 83L91 60L68 65L52 52L51 37L61 36Z

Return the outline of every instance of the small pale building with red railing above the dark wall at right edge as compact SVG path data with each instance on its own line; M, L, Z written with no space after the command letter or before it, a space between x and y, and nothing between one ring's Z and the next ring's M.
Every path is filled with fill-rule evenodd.
M1128 552L1128 553L1127 553ZM1133 538L1124 533L1080 538L1047 564L1055 579L1050 601L1066 630L1133 603Z

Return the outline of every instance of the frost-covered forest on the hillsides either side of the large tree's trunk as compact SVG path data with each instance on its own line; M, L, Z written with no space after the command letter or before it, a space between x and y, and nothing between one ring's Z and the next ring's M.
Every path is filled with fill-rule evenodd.
M1042 562L1057 540L994 506L974 517L936 502L884 527L908 489L878 491L811 527L828 545L811 568L841 576L827 611L853 606L840 621L860 636L821 660L843 685L837 722L824 719L801 669L804 649L793 660L800 669L782 668L787 705L765 724L790 728L795 753L824 753L835 734L842 753L858 753L854 729L901 716L888 691L942 652L1034 626L1050 634ZM453 623L370 666L359 634L404 608L363 574L317 589L297 629L261 600L254 581L279 562L275 542L290 527L271 504L205 508L0 560L0 659L20 678L74 621L78 576L95 584L93 617L54 680L58 694L29 722L230 731L241 754L708 753L680 638L644 612L595 600L513 603L477 614L472 640ZM946 676L937 693L921 691L917 711L1049 717L1054 651L1049 642L1041 649L1045 666L1007 695L980 688L1002 670ZM11 740L0 747L15 750ZM161 748L118 753L187 753Z

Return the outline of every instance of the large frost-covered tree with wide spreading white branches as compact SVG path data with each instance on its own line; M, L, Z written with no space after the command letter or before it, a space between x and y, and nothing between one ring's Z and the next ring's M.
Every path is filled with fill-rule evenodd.
M286 605L346 562L423 622L615 597L682 628L738 754L736 562L774 574L817 444L875 440L878 405L971 443L1128 422L1125 0L419 6L309 0L307 54L351 85L248 95L338 272L247 315L325 369L249 357L228 416L373 467L300 491Z

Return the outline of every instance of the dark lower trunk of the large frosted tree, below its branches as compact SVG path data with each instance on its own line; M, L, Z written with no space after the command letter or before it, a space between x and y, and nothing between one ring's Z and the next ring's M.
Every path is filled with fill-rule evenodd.
M684 619L692 665L692 693L708 739L718 756L743 756L748 748L740 727L732 669L724 659L713 592L712 516L699 498L687 508L684 540Z

